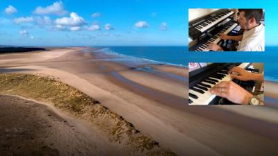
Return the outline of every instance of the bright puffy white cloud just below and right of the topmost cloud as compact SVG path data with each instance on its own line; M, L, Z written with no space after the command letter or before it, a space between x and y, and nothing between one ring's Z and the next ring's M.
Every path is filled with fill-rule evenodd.
M72 12L70 13L70 17L56 19L56 24L61 26L82 26L85 24L85 20L75 12Z

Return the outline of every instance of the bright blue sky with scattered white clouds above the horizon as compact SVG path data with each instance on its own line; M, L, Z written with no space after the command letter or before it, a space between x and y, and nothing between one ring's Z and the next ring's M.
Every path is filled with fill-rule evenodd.
M188 8L264 8L265 45L278 45L274 0L0 0L0 45L186 46Z

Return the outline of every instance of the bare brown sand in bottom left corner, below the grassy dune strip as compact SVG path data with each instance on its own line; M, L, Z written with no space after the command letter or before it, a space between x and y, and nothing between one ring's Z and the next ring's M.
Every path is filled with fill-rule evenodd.
M97 130L50 105L0 95L0 155L122 155Z

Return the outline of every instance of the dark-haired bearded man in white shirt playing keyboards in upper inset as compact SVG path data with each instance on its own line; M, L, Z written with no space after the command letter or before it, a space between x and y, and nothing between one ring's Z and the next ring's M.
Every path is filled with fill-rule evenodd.
M244 30L243 35L229 36L220 34L222 40L234 40L239 42L237 51L265 51L265 28L260 23L263 16L262 9L238 9L238 23ZM223 51L218 44L208 45L212 51Z

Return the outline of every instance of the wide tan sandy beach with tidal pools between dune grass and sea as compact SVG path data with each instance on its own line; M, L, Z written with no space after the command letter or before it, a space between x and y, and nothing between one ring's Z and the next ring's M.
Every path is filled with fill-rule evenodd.
M51 76L75 87L176 155L278 155L277 83L265 82L266 99L272 102L262 107L189 106L186 68L129 67L109 61L114 56L97 58L99 53L84 49L0 55L0 73ZM59 126L67 129L65 123Z

